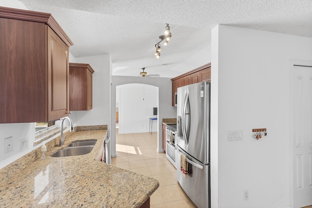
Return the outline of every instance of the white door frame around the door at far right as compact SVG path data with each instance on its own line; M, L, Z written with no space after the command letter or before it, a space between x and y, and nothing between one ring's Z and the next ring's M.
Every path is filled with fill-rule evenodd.
M294 81L293 81L293 75L294 75L294 66L308 66L312 67L312 61L303 61L303 60L291 60L290 61L290 71L291 71L291 76L290 76L290 83L291 83L291 90L290 90L290 199L291 199L291 208L293 208L293 88L294 88Z

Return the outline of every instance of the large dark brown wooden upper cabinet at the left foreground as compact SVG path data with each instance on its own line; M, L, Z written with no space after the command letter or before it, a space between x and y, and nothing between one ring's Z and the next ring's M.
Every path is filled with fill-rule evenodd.
M69 112L71 40L51 14L0 7L0 123Z

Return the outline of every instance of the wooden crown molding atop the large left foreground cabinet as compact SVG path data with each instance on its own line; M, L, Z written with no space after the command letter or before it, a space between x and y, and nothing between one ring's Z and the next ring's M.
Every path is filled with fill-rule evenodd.
M45 23L51 27L51 29L68 47L74 45L74 43L66 35L65 31L60 27L59 23L49 13L0 6L0 18Z

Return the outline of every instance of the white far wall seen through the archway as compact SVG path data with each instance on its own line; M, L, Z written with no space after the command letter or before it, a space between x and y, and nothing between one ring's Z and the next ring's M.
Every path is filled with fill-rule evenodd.
M158 106L158 87L131 83L117 88L120 89L119 134L149 132L149 118L156 117L153 107ZM157 132L155 122L153 127L153 132Z

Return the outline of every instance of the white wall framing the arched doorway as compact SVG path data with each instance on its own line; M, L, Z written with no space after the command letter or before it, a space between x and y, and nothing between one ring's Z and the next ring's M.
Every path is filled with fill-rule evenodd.
M124 77L124 76L112 76L112 156L116 157L116 87L121 84L129 83L142 83L149 84L158 87L158 120L154 122L153 128L158 128L158 152L163 152L162 149L162 119L163 118L176 118L176 107L171 106L172 84L170 78L159 77ZM157 124L157 125L156 125Z

